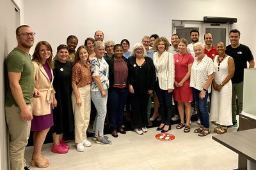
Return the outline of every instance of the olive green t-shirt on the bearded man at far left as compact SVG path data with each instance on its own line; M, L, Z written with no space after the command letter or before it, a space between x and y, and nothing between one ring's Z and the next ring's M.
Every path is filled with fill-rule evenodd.
M34 65L28 53L19 48L14 48L5 59L4 72L6 75L5 106L12 106L15 102L9 85L8 72L21 73L19 84L22 89L24 101L29 104L33 100L34 93Z

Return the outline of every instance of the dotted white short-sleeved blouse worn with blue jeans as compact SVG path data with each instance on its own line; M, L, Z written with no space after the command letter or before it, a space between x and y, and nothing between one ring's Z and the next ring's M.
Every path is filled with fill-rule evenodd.
M209 75L212 73L214 73L214 66L210 57L205 55L199 64L198 57L195 57L191 67L190 87L193 87L197 90L203 90ZM211 85L208 88L208 92L211 92Z

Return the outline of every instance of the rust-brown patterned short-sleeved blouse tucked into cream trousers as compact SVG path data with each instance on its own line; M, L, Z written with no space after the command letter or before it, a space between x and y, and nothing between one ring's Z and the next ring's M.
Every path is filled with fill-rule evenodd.
M83 64L81 60L78 60L72 68L72 81L76 81L77 87L84 87L92 83L90 64Z

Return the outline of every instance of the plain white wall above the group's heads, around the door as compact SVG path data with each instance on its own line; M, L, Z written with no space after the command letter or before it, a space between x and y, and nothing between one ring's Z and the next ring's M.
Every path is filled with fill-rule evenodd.
M250 46L256 56L256 1L232 0L26 0L24 22L36 32L36 41L46 40L56 47L74 34L79 45L97 30L105 41L120 43L129 39L131 45L144 35L157 33L168 39L172 20L203 20L210 17L236 17L233 28L241 31L241 43Z

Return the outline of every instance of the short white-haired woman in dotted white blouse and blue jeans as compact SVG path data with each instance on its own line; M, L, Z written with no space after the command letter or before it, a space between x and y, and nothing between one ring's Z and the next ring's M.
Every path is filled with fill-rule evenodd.
M196 102L196 110L201 121L201 126L195 129L198 136L207 136L209 131L209 113L207 110L207 97L211 92L214 66L212 59L204 53L204 44L195 43L195 60L191 67L190 87Z

